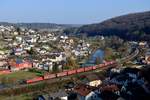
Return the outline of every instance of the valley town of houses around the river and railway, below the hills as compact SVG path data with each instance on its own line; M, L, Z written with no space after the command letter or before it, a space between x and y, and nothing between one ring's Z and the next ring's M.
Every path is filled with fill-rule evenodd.
M146 41L1 25L0 45L0 95L12 95L3 90L15 87L38 91L34 85L46 84L36 87L43 90L35 92L36 96L26 95L40 100L149 98L150 49ZM26 89L26 85L33 88ZM19 94L14 91L14 96Z

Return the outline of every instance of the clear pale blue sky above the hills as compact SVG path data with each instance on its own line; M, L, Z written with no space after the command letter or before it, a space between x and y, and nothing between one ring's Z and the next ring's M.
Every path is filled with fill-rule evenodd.
M0 0L0 22L91 24L150 11L150 0Z

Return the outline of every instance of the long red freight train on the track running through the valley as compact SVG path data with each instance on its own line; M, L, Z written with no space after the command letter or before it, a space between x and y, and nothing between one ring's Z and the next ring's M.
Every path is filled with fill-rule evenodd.
M111 65L115 65L115 64L117 64L116 61L111 61L111 62L105 62L103 64L99 64L99 65L95 65L95 66L83 67L83 68L78 68L78 69L74 69L74 70L67 70L67 71L63 71L63 72L59 72L59 73L55 73L55 74L45 74L41 77L36 77L33 79L26 80L25 83L31 84L31 83L35 83L35 82L39 82L39 81L43 81L43 80L50 80L50 79L69 76L69 75L78 74L78 73L82 73L82 72L88 72L88 71L92 71L92 70L96 70L96 69L108 69L111 67Z

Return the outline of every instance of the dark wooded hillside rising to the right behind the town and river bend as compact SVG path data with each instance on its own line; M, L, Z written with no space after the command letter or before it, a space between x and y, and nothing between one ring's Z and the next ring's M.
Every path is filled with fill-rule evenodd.
M150 11L115 17L101 23L84 25L78 33L117 35L128 40L150 40Z

